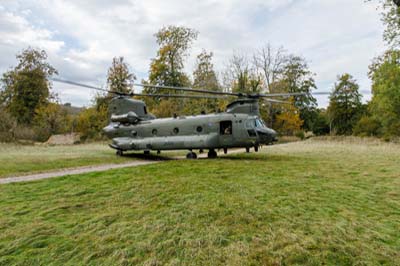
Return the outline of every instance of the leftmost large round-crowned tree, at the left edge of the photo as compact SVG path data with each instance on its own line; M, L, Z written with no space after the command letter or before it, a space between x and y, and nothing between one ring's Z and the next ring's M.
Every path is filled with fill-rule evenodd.
M28 48L17 55L18 65L3 74L0 99L19 123L30 125L36 110L49 102L51 83L57 71L44 50Z

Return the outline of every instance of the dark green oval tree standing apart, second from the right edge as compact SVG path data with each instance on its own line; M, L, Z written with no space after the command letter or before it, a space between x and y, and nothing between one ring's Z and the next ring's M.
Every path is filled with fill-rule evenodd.
M338 76L328 107L332 129L336 134L352 134L353 127L362 114L362 96L358 89L356 80L350 74Z

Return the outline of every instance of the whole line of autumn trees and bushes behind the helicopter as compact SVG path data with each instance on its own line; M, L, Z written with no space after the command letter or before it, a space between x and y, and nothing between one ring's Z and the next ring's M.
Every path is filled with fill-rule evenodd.
M348 73L338 76L329 96L329 106L318 108L312 92L317 90L315 73L305 58L271 44L251 54L234 53L218 73L213 53L202 50L193 72L185 72L185 61L198 37L191 28L167 26L154 36L158 44L143 84L193 87L242 93L303 93L286 99L289 104L261 101L261 114L268 126L283 135L359 135L390 139L400 136L400 9L392 1L382 1L384 40L388 50L373 59L369 67L372 100L362 103L357 81ZM18 64L5 72L0 87L0 141L46 140L52 134L80 132L84 139L101 138L108 122L110 93L99 93L92 106L78 115L68 112L51 92L49 78L57 70L47 62L46 52L28 48L17 55ZM107 72L107 87L129 92L137 79L124 57L115 57ZM146 87L144 93L157 93ZM163 91L163 93L175 93ZM223 110L227 100L146 98L148 109L158 117L199 114Z

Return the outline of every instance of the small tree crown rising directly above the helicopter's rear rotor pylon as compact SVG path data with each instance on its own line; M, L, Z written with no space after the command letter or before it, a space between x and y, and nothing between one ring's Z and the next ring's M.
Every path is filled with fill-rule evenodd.
M135 74L129 71L129 66L124 58L114 57L111 67L108 69L107 85L111 91L129 93L131 83L136 80Z

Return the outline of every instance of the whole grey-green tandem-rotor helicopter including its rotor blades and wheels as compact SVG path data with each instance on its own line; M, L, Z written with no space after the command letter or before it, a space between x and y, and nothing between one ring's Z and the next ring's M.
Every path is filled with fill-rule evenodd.
M149 154L150 151L160 153L165 150L189 150L186 158L196 159L197 154L194 150L200 152L208 150L208 158L216 158L216 150L219 149L223 149L225 154L231 148L245 148L246 152L254 148L254 151L258 152L261 145L270 145L277 141L277 133L268 128L261 118L260 99L272 103L288 103L274 98L304 95L304 93L243 94L147 84L132 85L195 94L120 93L64 79L52 80L116 95L109 104L110 123L103 128L103 132L112 140L109 146L115 149L119 156L126 151L143 151ZM146 104L134 99L134 96L192 99L236 97L237 99L228 104L224 112L156 118L147 112Z

